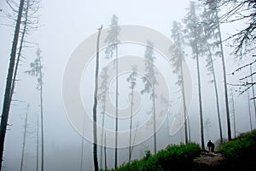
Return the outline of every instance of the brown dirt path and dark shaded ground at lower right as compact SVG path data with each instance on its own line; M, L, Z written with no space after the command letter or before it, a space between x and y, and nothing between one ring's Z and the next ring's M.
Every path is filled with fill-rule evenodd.
M254 167L256 167L255 161L253 162L251 159L241 162L230 162L224 157L224 154L218 151L201 151L200 157L195 157L192 163L192 171L244 171Z

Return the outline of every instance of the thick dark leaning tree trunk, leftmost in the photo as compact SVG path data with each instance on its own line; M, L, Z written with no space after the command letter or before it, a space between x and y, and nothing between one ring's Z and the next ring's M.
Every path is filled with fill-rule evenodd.
M12 79L13 79L13 73L14 73L14 67L15 67L15 56L16 56L16 50L17 50L17 44L19 40L19 32L20 32L20 20L22 16L24 6L24 0L20 0L20 7L19 7L19 13L17 16L16 26L15 26L15 36L14 41L12 44L10 59L9 59L9 71L8 76L6 80L6 88L4 93L4 100L3 100L3 113L1 117L1 128L0 128L0 169L2 168L2 162L3 162L3 148L4 148L4 139L6 134L6 128L8 124L8 118L9 118L9 109L10 109L10 92L11 92L11 85L12 85Z

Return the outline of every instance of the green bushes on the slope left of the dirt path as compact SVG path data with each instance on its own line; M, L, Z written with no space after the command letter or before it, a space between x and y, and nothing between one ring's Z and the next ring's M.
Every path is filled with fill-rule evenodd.
M188 145L168 145L165 150L152 155L146 151L141 160L134 160L112 171L166 171L173 168L186 168L193 159L199 156L201 148L195 143Z

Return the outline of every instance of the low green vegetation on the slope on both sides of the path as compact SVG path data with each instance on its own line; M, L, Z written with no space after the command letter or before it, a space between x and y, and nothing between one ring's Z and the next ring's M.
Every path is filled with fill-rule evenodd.
M219 170L256 167L256 162L253 161L256 158L256 130L240 134L236 139L218 145L216 151L223 153L227 159L225 168ZM166 149L158 151L155 155L146 151L142 159L106 171L168 171L174 168L189 170L194 158L199 157L200 153L201 147L196 143L168 145Z

